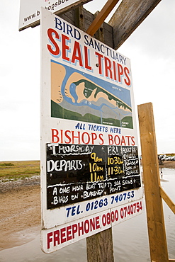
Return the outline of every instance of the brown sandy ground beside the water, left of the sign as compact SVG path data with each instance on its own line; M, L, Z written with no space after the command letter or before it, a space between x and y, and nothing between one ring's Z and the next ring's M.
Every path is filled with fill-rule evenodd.
M1 193L0 201L0 250L30 241L33 227L40 227L40 186Z

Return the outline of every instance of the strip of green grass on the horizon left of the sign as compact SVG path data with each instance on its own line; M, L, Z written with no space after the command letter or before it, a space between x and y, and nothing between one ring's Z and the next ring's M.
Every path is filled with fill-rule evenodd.
M40 175L40 161L0 161L0 178L3 181L34 175Z

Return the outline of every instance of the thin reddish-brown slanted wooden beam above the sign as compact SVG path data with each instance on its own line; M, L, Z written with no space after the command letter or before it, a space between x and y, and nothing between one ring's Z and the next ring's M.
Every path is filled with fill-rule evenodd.
M118 3L119 0L108 0L106 4L103 6L101 11L98 13L98 16L94 19L94 21L89 26L88 30L86 30L86 33L89 35L94 35L98 28L100 28L103 21L105 21L106 17L111 13L115 5Z

